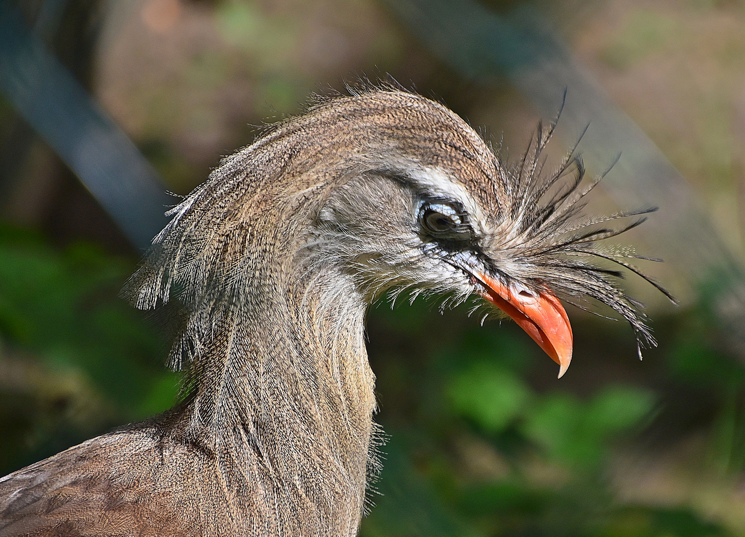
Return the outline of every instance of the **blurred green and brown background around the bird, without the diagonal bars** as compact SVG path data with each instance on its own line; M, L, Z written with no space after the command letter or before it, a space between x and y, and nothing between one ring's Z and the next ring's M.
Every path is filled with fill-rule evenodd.
M42 1L19 3L29 25ZM515 1L484 1L495 13ZM510 154L539 115L460 78L378 0L69 0L43 38L174 192L312 92L387 73ZM545 21L745 251L745 2L557 0ZM590 136L592 135L589 134ZM574 140L556 139L561 155ZM581 146L580 146L581 150ZM598 195L596 212L615 210ZM629 207L624 207L629 208ZM117 298L138 253L0 95L0 474L168 408L158 324ZM622 240L655 255L644 226ZM645 267L676 291L674 264ZM384 471L364 537L745 536L745 352L711 289L630 278L659 348L570 309L568 374L514 324L417 301L369 319Z

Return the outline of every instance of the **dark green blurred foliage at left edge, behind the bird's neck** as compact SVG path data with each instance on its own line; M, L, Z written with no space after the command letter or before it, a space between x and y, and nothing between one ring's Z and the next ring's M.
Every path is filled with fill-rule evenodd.
M0 409L0 425L21 442L5 453L48 455L44 446L56 450L57 439L82 440L173 404L178 377L162 368L164 342L117 297L132 269L93 245L60 251L36 233L0 227L0 359L11 370L35 367L26 385L4 388L25 401L17 412ZM6 455L0 464L26 461Z

